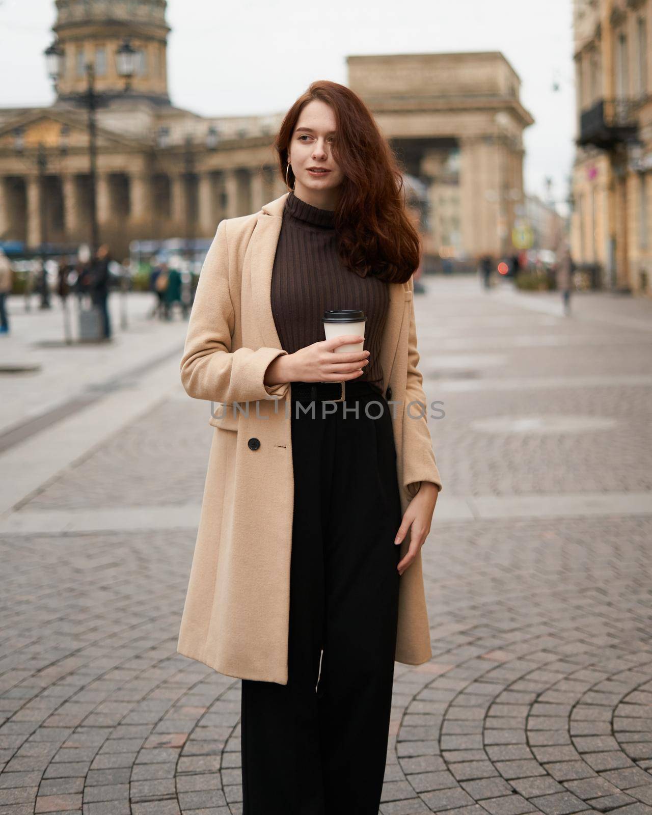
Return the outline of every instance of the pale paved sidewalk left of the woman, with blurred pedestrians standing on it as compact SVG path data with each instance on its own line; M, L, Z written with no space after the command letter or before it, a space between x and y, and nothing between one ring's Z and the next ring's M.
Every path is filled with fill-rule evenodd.
M59 346L64 338L59 298L52 298L49 311L33 306L25 312L22 298L9 305L11 334L0 337L0 364L20 363L29 370L0 373L0 467L11 472L0 492L0 528L11 507L166 395L183 392L178 365L187 331L178 314L170 322L148 318L150 293L130 293L126 302L112 295L110 343ZM74 321L76 302L71 306Z

